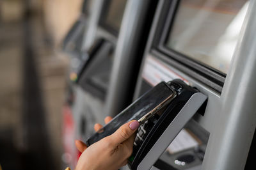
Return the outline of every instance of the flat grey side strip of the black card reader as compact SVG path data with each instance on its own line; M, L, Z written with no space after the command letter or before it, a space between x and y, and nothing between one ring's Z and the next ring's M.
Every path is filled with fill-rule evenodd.
M186 125L186 123L192 118L200 106L205 102L207 97L202 93L195 93L189 98L188 102L182 107L179 114L175 119L170 123L168 128L163 132L161 137L157 142L152 146L151 150L148 151L147 155L137 169L150 169L160 155L166 150L169 144L173 141L180 130Z

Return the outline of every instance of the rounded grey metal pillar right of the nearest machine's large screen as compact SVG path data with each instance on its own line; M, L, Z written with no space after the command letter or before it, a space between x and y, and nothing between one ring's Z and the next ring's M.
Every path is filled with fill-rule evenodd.
M250 1L202 169L244 169L256 125L255 16L256 2Z

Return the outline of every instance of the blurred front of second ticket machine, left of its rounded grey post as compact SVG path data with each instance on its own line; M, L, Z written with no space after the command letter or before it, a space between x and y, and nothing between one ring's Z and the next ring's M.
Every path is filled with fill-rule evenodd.
M72 107L76 137L82 140L94 132L95 123L104 123L104 103L113 65L113 52L126 0L95 3L98 10L94 11L94 23L86 33L88 36L93 35L93 41L82 51L87 59L79 60L80 66L70 74L76 98Z

